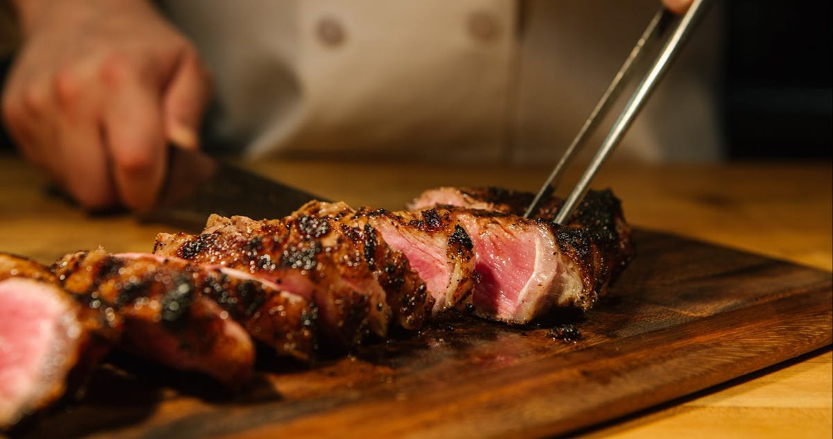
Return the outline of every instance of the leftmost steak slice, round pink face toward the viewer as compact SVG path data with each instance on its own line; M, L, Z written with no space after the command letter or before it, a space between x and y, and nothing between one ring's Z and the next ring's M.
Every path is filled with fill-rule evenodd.
M117 333L100 322L46 267L0 253L0 429L81 383Z

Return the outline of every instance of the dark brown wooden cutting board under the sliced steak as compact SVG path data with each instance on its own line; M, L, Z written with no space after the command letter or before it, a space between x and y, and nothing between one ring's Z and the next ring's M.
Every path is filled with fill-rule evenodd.
M830 273L645 230L636 242L613 297L583 316L528 328L449 317L312 367L263 353L236 395L117 356L80 401L12 435L541 437L833 342Z

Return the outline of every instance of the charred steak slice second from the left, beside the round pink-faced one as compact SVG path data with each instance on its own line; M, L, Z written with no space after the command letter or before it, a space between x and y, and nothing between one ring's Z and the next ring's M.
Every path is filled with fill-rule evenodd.
M67 254L52 269L78 302L123 318L121 348L168 367L205 373L229 387L251 377L252 339L202 295L204 271L150 254L102 250Z

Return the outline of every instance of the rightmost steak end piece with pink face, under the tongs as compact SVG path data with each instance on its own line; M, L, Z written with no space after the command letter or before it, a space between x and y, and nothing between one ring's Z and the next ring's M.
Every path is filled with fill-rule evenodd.
M557 199L539 210L540 218L521 218L531 196L440 188L410 205L424 207L436 200L464 206L448 209L474 243L480 280L471 305L481 317L527 323L552 306L586 310L633 258L630 226L610 190L588 192L566 226L551 222L561 205Z

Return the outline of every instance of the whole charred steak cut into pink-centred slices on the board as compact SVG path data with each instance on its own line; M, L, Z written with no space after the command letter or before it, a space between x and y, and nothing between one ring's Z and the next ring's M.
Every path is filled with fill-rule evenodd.
M158 234L153 254L67 254L47 269L0 253L0 428L46 407L112 346L229 387L252 376L252 338L308 361L457 308L530 323L591 308L635 254L621 202L497 188L427 190L409 210L312 201L279 220L212 215Z

